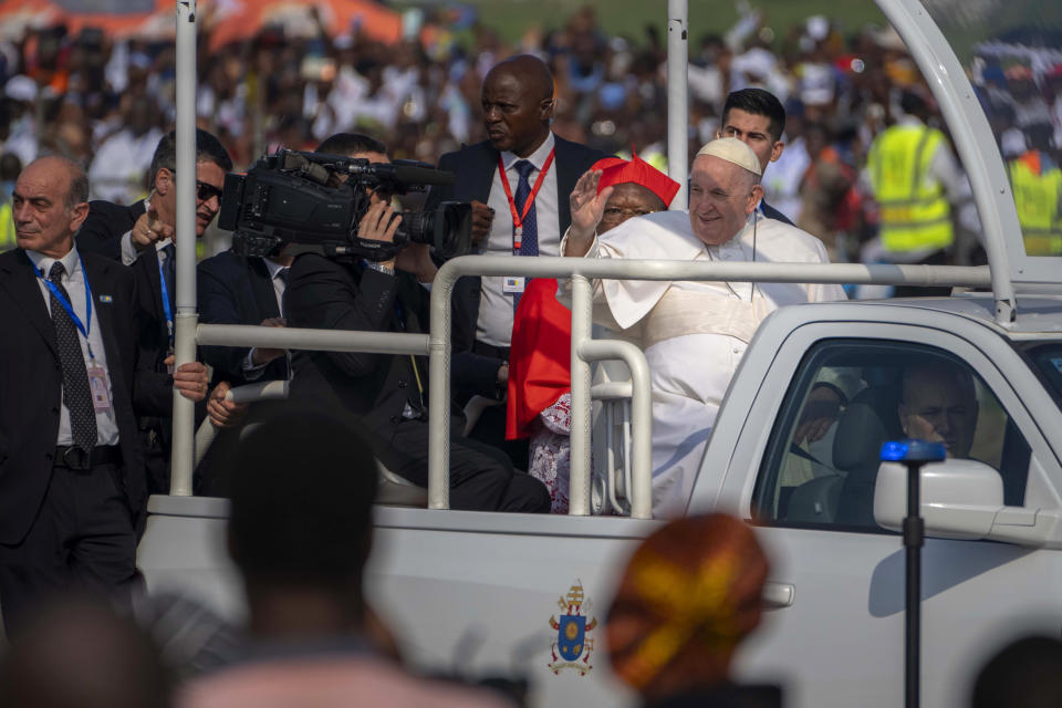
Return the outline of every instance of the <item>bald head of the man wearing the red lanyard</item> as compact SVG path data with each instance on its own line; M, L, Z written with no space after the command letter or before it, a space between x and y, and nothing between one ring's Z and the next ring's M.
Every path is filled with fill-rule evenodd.
M499 62L483 80L483 126L500 152L531 155L550 132L553 107L553 75L537 56Z

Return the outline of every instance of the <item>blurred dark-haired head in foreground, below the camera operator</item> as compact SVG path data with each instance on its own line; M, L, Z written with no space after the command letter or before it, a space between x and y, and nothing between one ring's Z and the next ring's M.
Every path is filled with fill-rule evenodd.
M360 629L377 473L368 447L332 416L287 410L250 427L230 465L229 552L252 634Z

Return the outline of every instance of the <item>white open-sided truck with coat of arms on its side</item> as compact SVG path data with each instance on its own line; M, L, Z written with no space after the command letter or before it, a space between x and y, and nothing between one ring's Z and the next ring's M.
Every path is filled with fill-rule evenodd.
M681 4L669 3L669 30L684 56ZM884 440L903 436L902 381L905 371L918 366L961 372L977 397L976 405L955 413L975 430L966 459L930 465L924 472L924 705L964 705L972 673L1007 638L1062 631L1062 260L1024 253L996 138L964 65L938 29L938 22L968 29L991 22L1004 3L878 4L948 122L970 177L990 268L545 258L521 263L533 269L530 274L573 282L572 512L448 510L447 416L433 410L429 489L398 489L403 493L395 496L394 480L385 485L375 512L369 580L372 601L415 664L470 677L527 678L538 706L632 701L610 676L601 627L621 564L660 522L650 518L644 357L624 343L589 340L590 279L602 275L981 289L939 299L782 308L760 326L730 384L688 504L690 513L722 511L748 520L772 561L769 611L739 655L741 678L783 683L788 705L799 708L900 705L904 549L895 530L905 514L906 472L879 465L878 450ZM1024 4L1034 3L1006 4L1021 18ZM179 21L183 11L179 7ZM185 23L192 24L187 17ZM179 23L179 31L188 28ZM978 39L967 37L965 45ZM680 65L678 76L685 73ZM685 111L680 117L685 125ZM684 162L677 157L685 155L681 140L673 164ZM179 176L191 174L178 168ZM184 358L196 341L429 353L433 406L448 399L454 280L506 274L512 267L511 259L486 257L444 267L433 290L430 336L219 330L196 325L195 296L188 294L195 292L190 253L178 263L178 354ZM589 362L603 358L625 362L626 369L610 366L629 372L629 382L598 378L591 386ZM835 421L821 439L801 439L800 421L819 405L816 384L839 373L848 386L846 399L833 410ZM602 451L616 426L606 425L606 414L597 415L594 460L602 469L591 470L592 398L600 399L594 406L607 408L623 407L628 396L629 444L613 444L615 456ZM225 555L228 504L188 494L190 412L177 398L174 493L150 500L139 566L152 591L189 592L239 617L240 590ZM404 503L388 503L389 496L403 497ZM585 617L577 653L571 645L559 647L563 615Z

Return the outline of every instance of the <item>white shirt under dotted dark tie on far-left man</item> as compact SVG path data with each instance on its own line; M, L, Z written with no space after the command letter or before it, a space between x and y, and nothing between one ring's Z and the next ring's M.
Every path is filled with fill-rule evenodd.
M52 271L52 263L56 259L49 258L43 253L38 253L37 251L27 251L27 256L30 257L30 261L33 263L33 268L37 269L39 275L48 278L49 273ZM85 313L88 309L88 303L85 301L85 272L81 268L81 259L77 257L77 251L71 249L66 256L59 259L63 268L66 269L66 272L63 274L62 283L63 288L66 289L66 293L70 295L70 304L74 309L74 313L77 317L85 322ZM49 290L48 285L44 284L44 281L41 278L37 279L38 285L41 288L41 296L44 298L44 306L48 308L48 313L52 313L52 291ZM92 283L90 283L90 287ZM85 357L85 367L92 366L92 362L95 361L96 366L103 367L107 372L107 388L111 392L111 400L114 400L114 386L111 384L111 374L107 369L107 352L103 345L103 334L100 331L100 317L96 315L98 310L97 306L100 303L100 298L102 295L108 295L111 293L106 292L93 292L92 296L94 300L94 306L92 309L92 319L88 323L88 339L85 339L85 335L79 331L77 341L81 342L81 355ZM90 345L92 348L92 356L88 355ZM74 438L70 430L70 409L66 407L66 402L62 402L62 408L59 415L59 436L55 438L55 445L73 445ZM118 444L118 424L114 417L114 406L112 405L108 410L100 412L96 410L96 445L117 445Z

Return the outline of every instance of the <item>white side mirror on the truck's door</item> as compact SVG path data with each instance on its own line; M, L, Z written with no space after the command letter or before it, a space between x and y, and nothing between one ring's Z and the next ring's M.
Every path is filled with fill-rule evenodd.
M1003 507L999 472L977 460L947 459L922 468L922 517L926 535L983 539ZM902 530L907 514L907 467L882 462L874 487L874 520Z

